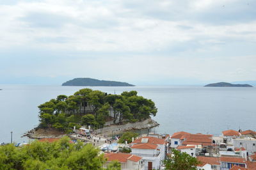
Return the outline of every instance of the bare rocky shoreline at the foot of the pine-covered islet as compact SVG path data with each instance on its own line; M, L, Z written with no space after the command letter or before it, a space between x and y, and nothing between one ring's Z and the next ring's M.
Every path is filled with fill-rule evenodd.
M135 123L126 123L124 125L109 125L108 127L99 128L95 130L95 134L99 135L112 135L114 134L122 134L123 132L130 131L130 130L141 130L147 128L154 128L157 127L159 123L148 118L147 120L138 121ZM42 138L49 138L49 137L56 137L60 138L65 135L65 132L60 132L54 128L42 129L42 128L34 128L26 132L22 137L27 136L31 139L42 139Z

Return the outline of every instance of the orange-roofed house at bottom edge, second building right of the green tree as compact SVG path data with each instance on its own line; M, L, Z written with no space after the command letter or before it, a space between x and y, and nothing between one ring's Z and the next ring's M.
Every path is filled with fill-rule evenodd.
M229 170L233 166L240 166L247 168L244 158L236 157L220 157L221 170Z

